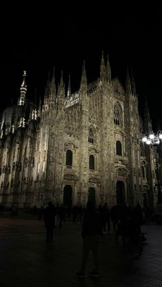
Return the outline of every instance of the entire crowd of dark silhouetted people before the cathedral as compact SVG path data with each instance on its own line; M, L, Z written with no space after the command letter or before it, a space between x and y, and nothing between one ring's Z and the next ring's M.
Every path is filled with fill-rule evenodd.
M2 205L0 206L0 213L3 215ZM53 242L54 228L62 227L62 223L65 223L66 220L70 219L74 224L76 222L80 223L83 241L82 262L80 271L76 272L76 276L84 277L89 251L92 251L94 269L89 273L89 276L98 277L100 236L115 234L116 245L120 236L123 247L127 247L131 243L137 247L139 255L141 255L143 242L147 240L141 230L141 225L148 225L152 222L154 210L141 208L139 204L134 208L126 204L108 208L108 204L104 203L104 205L95 208L95 205L89 201L84 208L77 205L68 208L64 205L54 205L49 202L46 208L36 208L36 205L34 205L32 214L38 216L38 219L44 220L46 242Z

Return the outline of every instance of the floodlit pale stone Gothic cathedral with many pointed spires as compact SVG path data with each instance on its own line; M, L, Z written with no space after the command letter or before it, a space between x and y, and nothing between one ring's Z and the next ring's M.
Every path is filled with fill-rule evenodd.
M100 77L65 95L62 76L48 79L43 103L27 99L23 73L17 105L6 108L0 125L0 204L19 208L127 203L157 204L157 153L141 141L151 127L146 105L138 110L135 81L111 77L102 55Z

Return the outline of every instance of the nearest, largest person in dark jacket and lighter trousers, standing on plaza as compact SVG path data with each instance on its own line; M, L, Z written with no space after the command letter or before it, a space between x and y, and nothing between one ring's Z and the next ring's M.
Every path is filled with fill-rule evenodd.
M86 269L86 262L89 256L89 251L93 253L94 269L89 273L90 277L99 277L99 259L98 249L100 235L102 235L102 221L101 215L94 208L93 203L88 202L86 205L86 212L82 219L82 263L80 271L76 272L79 278L84 277Z

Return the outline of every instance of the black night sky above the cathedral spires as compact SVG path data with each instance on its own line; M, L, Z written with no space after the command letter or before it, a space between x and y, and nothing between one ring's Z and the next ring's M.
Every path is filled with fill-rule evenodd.
M43 97L48 72L61 69L65 83L71 74L71 88L80 83L86 60L88 82L99 75L102 50L111 62L113 77L125 84L126 69L132 68L137 82L139 109L146 96L152 118L161 114L162 49L160 1L76 1L65 7L40 3L35 7L2 10L0 86L1 108L19 96L23 70L27 71L27 97ZM122 2L122 3L121 3ZM82 3L82 4L81 4Z

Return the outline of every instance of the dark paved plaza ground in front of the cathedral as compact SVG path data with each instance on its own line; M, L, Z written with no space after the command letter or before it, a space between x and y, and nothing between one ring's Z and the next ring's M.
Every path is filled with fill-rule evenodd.
M115 234L100 240L100 277L75 277L80 268L80 223L66 221L54 231L54 243L45 242L43 220L30 214L0 216L0 287L115 287L162 286L162 225L143 225L147 243L143 254ZM89 254L87 272L93 267Z

